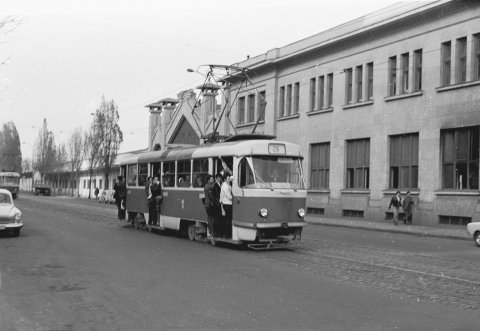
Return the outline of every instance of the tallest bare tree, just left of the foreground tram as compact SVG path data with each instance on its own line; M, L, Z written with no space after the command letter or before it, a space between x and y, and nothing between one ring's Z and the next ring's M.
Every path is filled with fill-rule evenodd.
M105 174L105 188L109 189L109 176L112 164L117 157L118 149L123 141L123 133L120 130L118 121L118 106L113 100L106 101L105 96L102 97L100 108L95 113L98 118L102 130L102 144L100 148L101 161Z

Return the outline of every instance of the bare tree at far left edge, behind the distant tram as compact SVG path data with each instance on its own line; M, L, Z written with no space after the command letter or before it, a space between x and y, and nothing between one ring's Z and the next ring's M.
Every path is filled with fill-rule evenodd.
M17 127L13 122L3 124L0 130L0 170L22 169L22 152Z

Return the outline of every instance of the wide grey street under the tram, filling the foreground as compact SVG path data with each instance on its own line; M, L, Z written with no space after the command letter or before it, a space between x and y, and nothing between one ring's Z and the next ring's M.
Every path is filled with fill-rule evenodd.
M292 250L134 230L114 205L22 194L0 330L476 330L480 250L309 225Z

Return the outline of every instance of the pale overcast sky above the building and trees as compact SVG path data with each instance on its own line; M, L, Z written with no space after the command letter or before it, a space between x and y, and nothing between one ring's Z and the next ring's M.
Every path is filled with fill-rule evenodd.
M203 82L187 68L239 62L398 2L2 0L1 17L23 22L0 34L0 123L15 123L30 158L44 118L67 143L104 95L119 106L120 151L146 148L145 105Z

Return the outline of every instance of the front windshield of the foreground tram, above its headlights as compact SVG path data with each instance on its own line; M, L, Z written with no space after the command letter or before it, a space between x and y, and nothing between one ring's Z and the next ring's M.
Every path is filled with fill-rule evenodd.
M239 185L243 188L303 189L301 159L247 156L240 161Z

